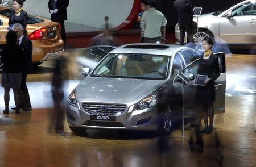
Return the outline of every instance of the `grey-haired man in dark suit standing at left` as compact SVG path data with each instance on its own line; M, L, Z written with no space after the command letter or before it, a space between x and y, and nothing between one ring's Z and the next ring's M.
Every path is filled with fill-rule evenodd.
M30 39L24 36L24 27L22 24L14 24L13 31L16 32L18 36L18 44L22 47L22 82L19 90L19 108L23 111L31 111L30 95L27 89L27 73L32 70L32 50L33 45ZM15 108L16 109L16 108Z

